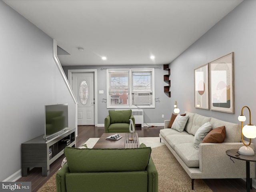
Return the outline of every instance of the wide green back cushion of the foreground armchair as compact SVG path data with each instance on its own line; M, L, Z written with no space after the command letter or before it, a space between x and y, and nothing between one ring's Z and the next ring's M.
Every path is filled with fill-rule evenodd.
M70 172L144 171L151 148L78 149L66 147L64 154Z

